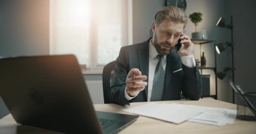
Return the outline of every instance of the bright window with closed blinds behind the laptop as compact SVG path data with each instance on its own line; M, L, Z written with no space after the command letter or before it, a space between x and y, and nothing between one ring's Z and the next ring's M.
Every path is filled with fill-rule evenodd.
M51 0L50 54L75 54L99 71L127 44L126 0Z

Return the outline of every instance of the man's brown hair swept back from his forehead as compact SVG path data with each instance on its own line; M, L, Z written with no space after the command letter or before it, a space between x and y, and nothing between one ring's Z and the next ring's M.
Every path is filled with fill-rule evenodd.
M155 14L155 23L160 25L165 19L169 19L171 21L181 21L184 23L184 28L187 24L187 15L181 8L177 8L174 6L163 7Z

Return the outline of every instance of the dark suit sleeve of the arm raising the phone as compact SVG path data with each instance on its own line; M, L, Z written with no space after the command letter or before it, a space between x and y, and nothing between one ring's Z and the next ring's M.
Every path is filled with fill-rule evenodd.
M198 67L187 67L184 64L182 66L182 95L191 100L199 100L202 96L203 82Z

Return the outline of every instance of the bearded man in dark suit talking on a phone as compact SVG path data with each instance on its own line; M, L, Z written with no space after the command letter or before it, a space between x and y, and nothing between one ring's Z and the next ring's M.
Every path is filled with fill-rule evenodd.
M155 14L153 38L120 49L109 89L111 103L180 100L181 91L191 100L201 97L194 44L182 33L186 23L183 10L164 7ZM177 54L179 39L184 46Z

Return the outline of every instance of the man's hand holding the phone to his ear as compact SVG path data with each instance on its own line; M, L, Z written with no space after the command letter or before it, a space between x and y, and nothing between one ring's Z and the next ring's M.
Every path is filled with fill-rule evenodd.
M186 34L182 33L181 37L179 39L182 40L181 44L184 44L184 46L179 51L179 56L182 57L182 56L187 56L187 55L193 54L194 43L192 43L192 41L190 40L189 36L187 36Z

